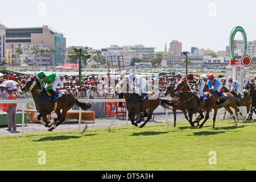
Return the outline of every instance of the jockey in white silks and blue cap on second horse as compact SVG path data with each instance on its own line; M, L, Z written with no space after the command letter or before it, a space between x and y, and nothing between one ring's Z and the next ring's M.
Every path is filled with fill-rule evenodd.
M141 101L144 100L143 96L145 96L145 89L147 86L147 81L142 77L136 77L134 73L129 75L129 85L134 93L137 93L139 97L141 97Z

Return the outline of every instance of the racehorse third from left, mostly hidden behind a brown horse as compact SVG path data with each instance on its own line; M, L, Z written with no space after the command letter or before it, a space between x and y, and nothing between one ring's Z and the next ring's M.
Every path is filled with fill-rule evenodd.
M179 98L179 102L177 105L172 106L172 112L174 113L174 127L176 127L176 110L181 110L183 111L185 118L189 121L188 116L187 116L187 111L186 111L186 106L185 102L183 99L183 95L181 93L175 94L174 93L174 86L172 84L167 84L166 85L166 90L164 91L164 96L168 96L168 94L171 95L172 98ZM191 126L195 126L193 123L191 123Z

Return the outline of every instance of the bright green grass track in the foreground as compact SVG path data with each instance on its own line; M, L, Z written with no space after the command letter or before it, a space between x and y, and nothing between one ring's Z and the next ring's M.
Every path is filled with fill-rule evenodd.
M0 170L255 170L255 124L188 122L0 137ZM39 151L46 164L39 165ZM209 164L210 151L216 165Z

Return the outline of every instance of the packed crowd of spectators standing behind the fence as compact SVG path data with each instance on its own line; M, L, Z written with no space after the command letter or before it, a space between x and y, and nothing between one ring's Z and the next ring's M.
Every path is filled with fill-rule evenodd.
M124 75L116 75L110 76L109 73L107 75L99 75L99 76L82 76L81 77L81 86L79 86L79 77L75 75L65 75L60 77L60 82L56 87L56 90L66 89L69 92L73 93L76 98L89 98L89 96L93 96L93 98L104 97L104 98L116 98L114 88L117 83L124 78ZM16 76L14 73L9 73L8 75L3 75L0 78L0 85L3 81L6 80L14 80L18 82L18 85L11 88L13 89L13 93L18 96L18 98L22 97L21 89L23 84L26 83L28 76ZM175 81L175 77L145 77L147 81L147 92L150 90L157 90L160 97L163 97L163 93L166 89L166 85ZM205 82L207 82L207 78L203 78ZM225 79L222 79L222 85L225 85ZM250 78L250 81L254 84L253 77ZM158 84L156 84L158 83ZM242 84L242 83L241 83ZM244 83L243 83L244 84ZM0 96L1 98L6 98L5 93L7 89L1 86Z

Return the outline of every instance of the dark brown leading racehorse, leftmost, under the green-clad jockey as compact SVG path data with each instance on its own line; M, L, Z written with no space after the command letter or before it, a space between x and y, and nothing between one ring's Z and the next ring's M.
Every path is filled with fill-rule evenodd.
M52 99L48 96L46 90L41 89L40 82L36 76L29 77L26 84L24 84L21 89L23 93L28 90L31 91L33 100L35 101L36 110L39 112L38 120L44 126L50 128L55 122L59 121L48 131L56 129L57 126L65 121L65 115L67 114L67 111L73 107L73 105L76 104L84 110L88 110L92 106L92 104L89 102L79 102L75 96L67 90L61 90L61 94L63 96L59 97L59 102L53 102ZM62 113L60 112L61 109ZM51 114L52 111L55 111L57 118L52 119L51 122L48 122L47 115ZM41 120L41 117L43 118L43 121Z

